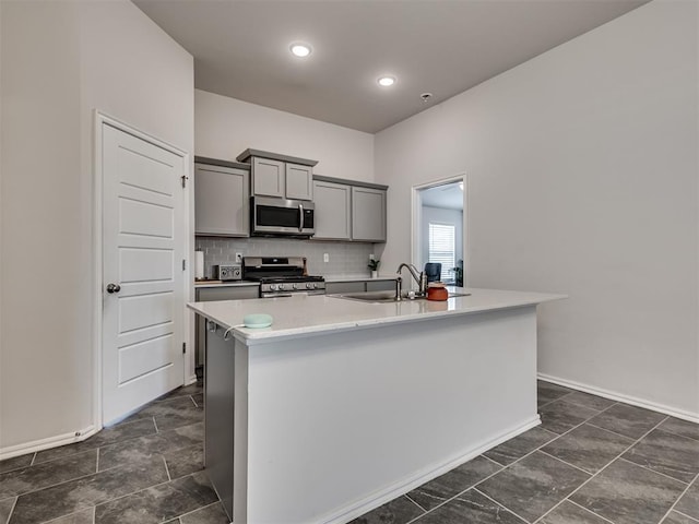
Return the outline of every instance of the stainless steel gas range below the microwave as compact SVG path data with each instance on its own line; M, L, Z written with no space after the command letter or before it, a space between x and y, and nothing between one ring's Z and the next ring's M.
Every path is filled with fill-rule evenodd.
M258 281L262 298L325 294L325 279L306 274L304 257L245 257L242 278Z

